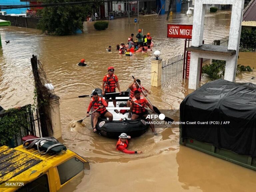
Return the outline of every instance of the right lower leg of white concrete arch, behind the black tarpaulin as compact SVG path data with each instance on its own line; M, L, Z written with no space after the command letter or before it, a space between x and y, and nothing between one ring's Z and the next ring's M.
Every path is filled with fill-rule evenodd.
M237 56L233 55L226 60L224 79L227 81L235 82L236 77L236 60Z

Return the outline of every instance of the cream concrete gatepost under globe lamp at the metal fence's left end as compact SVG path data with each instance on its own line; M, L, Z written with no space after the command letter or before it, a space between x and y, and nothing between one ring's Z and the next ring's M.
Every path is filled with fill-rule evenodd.
M151 60L151 85L154 87L161 86L162 77L162 59Z

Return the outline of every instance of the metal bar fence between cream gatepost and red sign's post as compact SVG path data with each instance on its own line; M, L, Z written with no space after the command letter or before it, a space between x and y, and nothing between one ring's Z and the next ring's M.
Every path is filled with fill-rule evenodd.
M182 77L183 58L184 54L180 54L168 59L167 61L162 61L162 85L167 83L174 77Z

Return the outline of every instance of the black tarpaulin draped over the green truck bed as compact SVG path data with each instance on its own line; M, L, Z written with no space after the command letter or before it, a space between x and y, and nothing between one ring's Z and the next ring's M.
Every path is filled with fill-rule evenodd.
M180 121L185 122L182 137L256 157L256 85L252 83L223 79L206 83L182 101Z

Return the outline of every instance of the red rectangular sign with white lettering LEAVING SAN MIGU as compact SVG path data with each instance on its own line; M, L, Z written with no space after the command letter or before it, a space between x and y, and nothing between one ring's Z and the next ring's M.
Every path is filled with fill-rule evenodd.
M193 25L176 25L167 24L167 37L169 38L181 38L191 39L192 38Z

